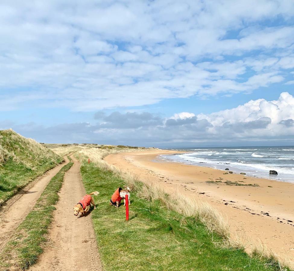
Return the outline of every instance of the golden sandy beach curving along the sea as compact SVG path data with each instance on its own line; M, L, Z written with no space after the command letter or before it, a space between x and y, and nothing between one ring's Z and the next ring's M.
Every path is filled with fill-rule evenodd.
M107 163L139 175L147 182L160 182L167 189L207 201L228 220L231 238L250 252L265 246L294 268L294 184L254 178L208 167L161 160L160 154L176 151L147 150L110 154ZM207 183L207 181L221 181ZM227 185L224 182L258 184Z

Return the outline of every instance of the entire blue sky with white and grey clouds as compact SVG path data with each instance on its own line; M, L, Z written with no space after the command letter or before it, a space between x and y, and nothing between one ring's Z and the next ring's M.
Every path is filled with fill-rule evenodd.
M294 1L1 1L0 129L46 143L294 145Z

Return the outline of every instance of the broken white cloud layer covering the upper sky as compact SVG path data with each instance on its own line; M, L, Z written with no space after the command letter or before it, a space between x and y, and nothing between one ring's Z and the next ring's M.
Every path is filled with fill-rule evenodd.
M288 0L4 1L0 110L97 111L267 87L294 68L293 14Z

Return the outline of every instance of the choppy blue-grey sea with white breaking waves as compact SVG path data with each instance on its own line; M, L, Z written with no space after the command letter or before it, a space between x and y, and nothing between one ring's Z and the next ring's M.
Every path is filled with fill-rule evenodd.
M164 160L212 167L234 173L294 183L294 146L165 148L184 154L161 155ZM276 170L278 175L270 175Z

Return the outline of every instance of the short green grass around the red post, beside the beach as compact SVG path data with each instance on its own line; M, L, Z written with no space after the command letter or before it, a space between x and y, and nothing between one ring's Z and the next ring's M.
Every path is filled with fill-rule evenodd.
M105 270L280 270L273 260L249 257L242 249L222 249L221 238L194 218L168 210L131 193L130 220L125 207L109 206L124 181L94 164L82 164L87 193L99 191L92 212L100 258ZM289 270L289 269L288 269Z

